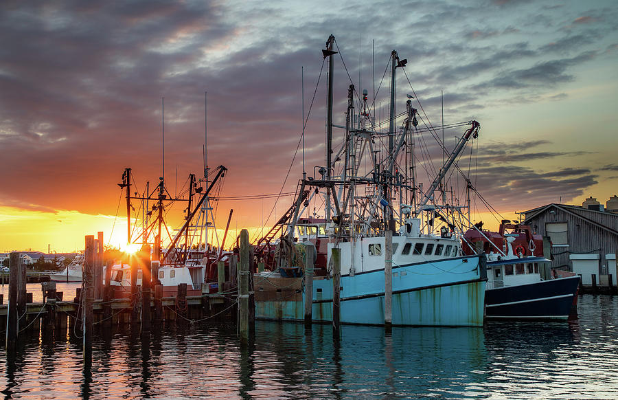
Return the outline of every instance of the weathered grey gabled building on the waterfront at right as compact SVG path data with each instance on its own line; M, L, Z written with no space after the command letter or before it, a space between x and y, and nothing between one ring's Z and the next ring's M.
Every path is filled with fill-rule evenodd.
M608 254L618 250L618 214L609 206L611 201L608 211L592 197L581 206L547 204L522 212L523 223L551 238L554 268L573 271L573 259L586 259L597 265L597 274L604 275L608 264L615 266L615 258Z

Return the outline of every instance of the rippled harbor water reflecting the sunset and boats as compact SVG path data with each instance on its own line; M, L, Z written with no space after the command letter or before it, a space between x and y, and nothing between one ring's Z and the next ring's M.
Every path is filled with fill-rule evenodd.
M490 322L484 328L256 322L240 346L232 327L206 324L93 344L27 338L0 377L12 399L612 399L618 397L618 297L580 296L570 322Z

